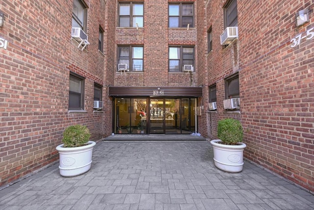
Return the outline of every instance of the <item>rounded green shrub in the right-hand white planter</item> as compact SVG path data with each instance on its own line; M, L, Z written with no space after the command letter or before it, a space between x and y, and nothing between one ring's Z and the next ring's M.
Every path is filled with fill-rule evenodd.
M240 121L223 119L218 121L218 138L227 145L235 145L243 139L243 129Z

